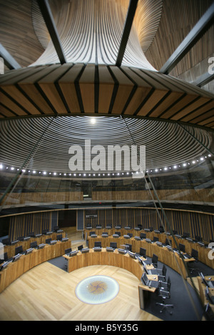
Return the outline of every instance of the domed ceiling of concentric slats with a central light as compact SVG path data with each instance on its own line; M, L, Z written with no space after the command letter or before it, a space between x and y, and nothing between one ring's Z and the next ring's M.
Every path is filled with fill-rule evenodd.
M95 120L95 123L91 121ZM173 169L176 164L208 155L204 147L210 148L212 138L207 131L197 128L191 137L187 131L190 127L182 128L178 123L165 123L158 120L143 120L141 118L121 118L109 116L71 115L44 118L19 118L2 120L1 122L1 163L13 168L21 168L29 157L24 168L36 170L36 174L43 175L43 171L71 173L69 170L69 154L71 145L79 145L83 155L86 155L85 140L91 141L91 148L102 145L106 152L106 168L101 170L78 170L83 173L115 172L116 155L108 157L108 145L146 145L146 169L168 167ZM200 145L202 143L203 145ZM92 150L91 150L92 152ZM91 153L91 161L93 157ZM138 153L138 161L139 161ZM121 155L121 169L125 172ZM106 170L107 163L114 170ZM84 167L83 167L84 168ZM10 171L10 168L9 168ZM36 175L35 174L35 175Z

